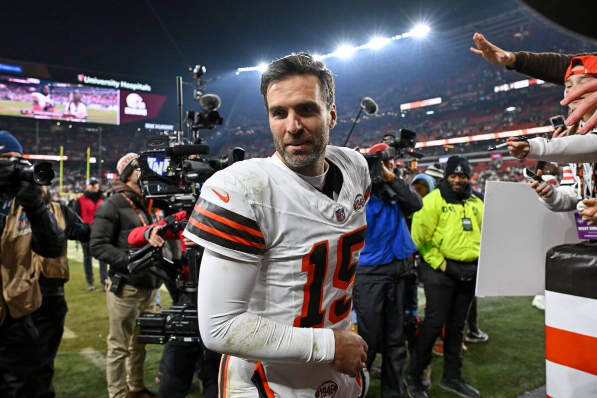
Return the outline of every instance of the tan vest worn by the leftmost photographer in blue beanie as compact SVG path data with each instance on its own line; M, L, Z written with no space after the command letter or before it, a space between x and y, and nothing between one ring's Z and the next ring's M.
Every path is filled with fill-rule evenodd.
M0 320L4 319L7 308L10 316L18 318L41 306L39 274L32 262L31 236L24 209L13 202L0 238Z

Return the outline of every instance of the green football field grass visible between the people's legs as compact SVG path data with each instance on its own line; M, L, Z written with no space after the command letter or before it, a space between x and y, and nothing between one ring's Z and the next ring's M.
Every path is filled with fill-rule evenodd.
M80 259L81 249L75 251L72 242L69 243L69 257ZM107 397L106 293L99 288L97 268L94 269L96 290L85 290L83 266L72 258L70 281L65 286L69 312L56 358L54 387L57 397ZM162 307L170 303L168 294L162 292ZM482 397L516 398L545 383L544 313L531 307L531 297L479 298L479 326L490 339L487 343L468 345L463 374L481 391ZM157 391L155 376L161 354L162 346L147 345L145 381L152 391ZM439 387L442 369L442 357L434 356L429 396L456 397ZM189 397L199 396L197 383ZM372 380L368 397L380 397L378 380Z

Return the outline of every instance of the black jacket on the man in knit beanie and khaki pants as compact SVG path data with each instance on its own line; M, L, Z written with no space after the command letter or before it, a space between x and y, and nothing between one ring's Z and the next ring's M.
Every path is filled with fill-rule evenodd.
M143 224L137 212L121 193L133 201L146 224L151 224L143 199L120 180L112 180L110 184L115 194L101 202L91 224L91 255L97 260L110 264L110 276L118 272L124 276L125 282L136 288L155 289L158 287L155 276L151 274L131 276L128 272L128 249L132 249L128 245L128 234Z

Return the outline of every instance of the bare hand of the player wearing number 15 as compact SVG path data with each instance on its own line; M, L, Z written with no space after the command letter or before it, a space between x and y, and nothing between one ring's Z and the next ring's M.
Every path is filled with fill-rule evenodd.
M361 336L349 330L334 329L334 340L336 341L336 354L332 367L336 371L356 377L358 372L365 367L367 360L367 343Z

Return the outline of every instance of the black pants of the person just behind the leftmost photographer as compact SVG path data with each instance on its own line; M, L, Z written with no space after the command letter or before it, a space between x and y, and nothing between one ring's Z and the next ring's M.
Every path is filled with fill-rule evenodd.
M54 398L54 359L64 332L64 319L68 307L64 296L44 297L41 307L31 314L33 324L39 332L41 369L38 374L36 398Z

